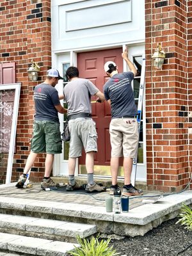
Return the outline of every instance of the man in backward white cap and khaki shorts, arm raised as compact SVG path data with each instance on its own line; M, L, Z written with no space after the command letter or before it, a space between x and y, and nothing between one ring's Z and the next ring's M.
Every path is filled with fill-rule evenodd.
M106 74L110 77L104 84L104 96L111 105L111 122L109 133L111 140L111 177L110 195L118 187L117 176L119 157L124 157L124 188L122 195L143 195L143 191L134 188L131 184L132 159L136 157L138 148L137 108L131 81L137 70L128 58L128 49L122 53L130 72L118 73L118 67L113 61L104 65Z

